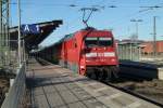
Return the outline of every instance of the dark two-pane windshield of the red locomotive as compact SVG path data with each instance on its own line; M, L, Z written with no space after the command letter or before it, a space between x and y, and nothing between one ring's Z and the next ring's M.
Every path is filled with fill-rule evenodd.
M111 46L113 44L113 39L108 37L87 37L85 39L85 44L88 48Z

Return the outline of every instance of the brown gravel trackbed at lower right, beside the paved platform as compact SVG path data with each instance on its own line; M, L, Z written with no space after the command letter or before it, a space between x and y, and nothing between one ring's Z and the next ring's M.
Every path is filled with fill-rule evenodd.
M112 84L121 87L125 87L142 96L151 98L160 104L163 104L163 81L151 80L151 81L131 81L121 79Z

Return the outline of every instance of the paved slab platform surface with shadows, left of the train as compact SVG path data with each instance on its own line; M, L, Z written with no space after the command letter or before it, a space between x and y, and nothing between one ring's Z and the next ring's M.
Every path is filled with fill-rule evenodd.
M33 108L159 108L57 65L28 64Z

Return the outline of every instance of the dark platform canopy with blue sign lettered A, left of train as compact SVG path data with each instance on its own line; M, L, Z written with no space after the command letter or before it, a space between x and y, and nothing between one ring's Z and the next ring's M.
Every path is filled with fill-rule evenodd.
M53 30L62 25L62 21L51 21L36 24L25 24L21 26L21 39L25 41L26 50L32 50L38 46ZM12 49L17 48L18 27L10 28L10 44Z

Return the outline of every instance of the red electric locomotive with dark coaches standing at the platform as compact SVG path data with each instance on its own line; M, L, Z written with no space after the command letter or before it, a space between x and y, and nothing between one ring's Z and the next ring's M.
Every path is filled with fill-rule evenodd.
M118 58L112 31L86 28L66 35L37 54L79 75L99 80L116 78Z

